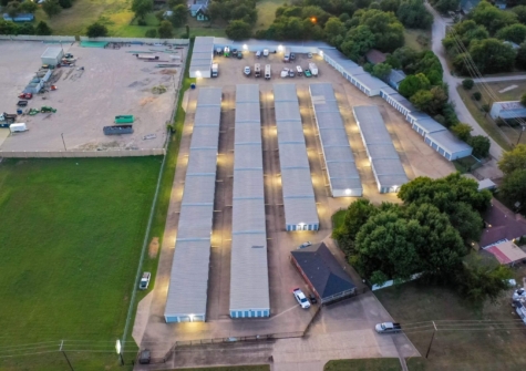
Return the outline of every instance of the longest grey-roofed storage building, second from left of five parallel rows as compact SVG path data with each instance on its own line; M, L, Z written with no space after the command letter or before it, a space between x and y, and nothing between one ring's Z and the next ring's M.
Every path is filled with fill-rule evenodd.
M259 85L236 86L230 317L270 316Z

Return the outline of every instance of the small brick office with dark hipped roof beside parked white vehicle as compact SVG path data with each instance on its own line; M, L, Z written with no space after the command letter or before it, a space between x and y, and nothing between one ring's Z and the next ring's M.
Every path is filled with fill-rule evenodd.
M355 295L354 282L326 244L293 250L290 260L321 305Z

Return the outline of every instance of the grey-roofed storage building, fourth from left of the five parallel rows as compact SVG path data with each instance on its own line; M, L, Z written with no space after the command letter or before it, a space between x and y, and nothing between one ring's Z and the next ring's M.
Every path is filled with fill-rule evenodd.
M332 197L359 197L363 188L334 90L330 83L310 84L309 90Z

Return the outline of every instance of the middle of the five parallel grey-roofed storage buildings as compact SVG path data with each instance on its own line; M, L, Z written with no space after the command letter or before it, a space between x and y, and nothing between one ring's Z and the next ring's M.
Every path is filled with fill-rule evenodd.
M274 84L285 229L318 230L320 221L295 84Z

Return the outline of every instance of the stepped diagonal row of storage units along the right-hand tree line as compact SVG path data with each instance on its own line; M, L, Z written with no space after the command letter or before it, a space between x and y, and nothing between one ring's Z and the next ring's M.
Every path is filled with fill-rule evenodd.
M427 114L417 111L410 101L402 96L398 91L385 84L380 79L371 76L357 63L350 61L345 55L336 49L320 49L319 53L327 63L339 71L345 80L360 89L368 96L380 95L396 111L399 111L413 130L419 132L424 142L439 152L448 161L470 156L473 148L465 142L458 140L447 128L431 118ZM421 118L412 118L412 115ZM422 123L420 124L422 120ZM416 124L415 124L416 123ZM431 127L433 132L425 133L424 127Z

